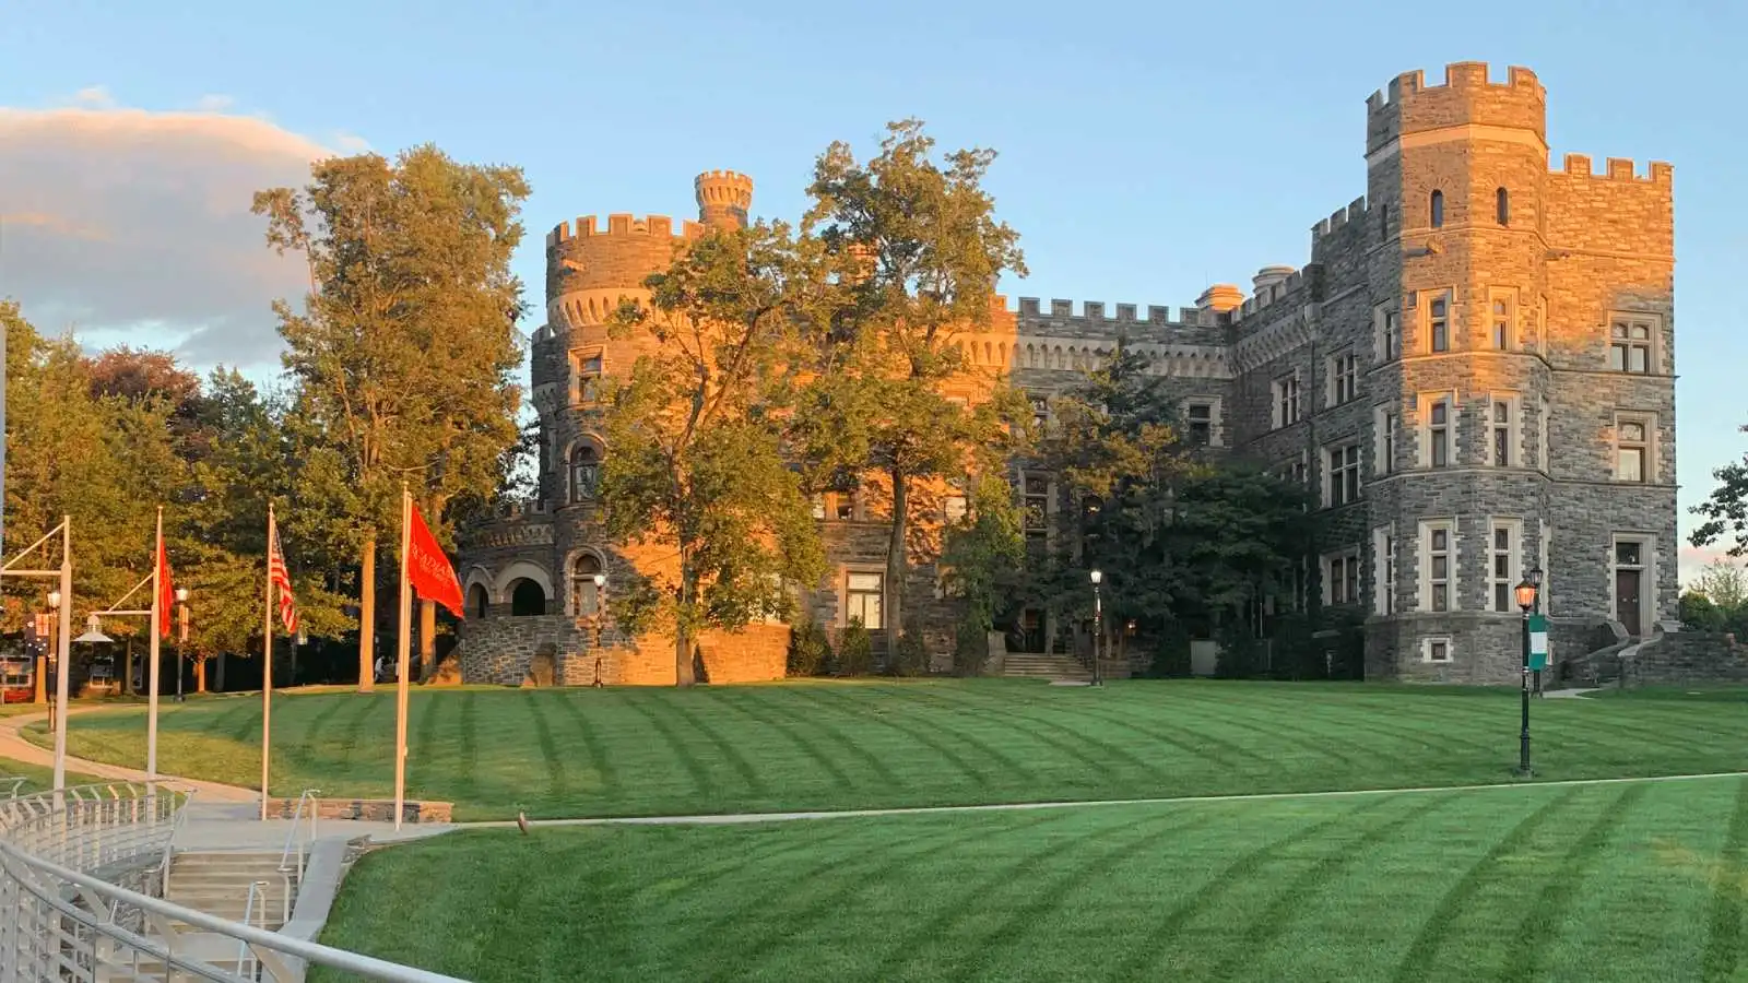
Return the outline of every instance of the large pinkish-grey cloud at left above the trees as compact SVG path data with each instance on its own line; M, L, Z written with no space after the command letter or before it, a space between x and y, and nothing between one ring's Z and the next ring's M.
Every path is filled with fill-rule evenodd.
M302 185L334 150L271 121L122 108L101 87L0 107L0 296L45 331L171 345L194 364L276 360L269 304L306 289L266 245L255 191Z

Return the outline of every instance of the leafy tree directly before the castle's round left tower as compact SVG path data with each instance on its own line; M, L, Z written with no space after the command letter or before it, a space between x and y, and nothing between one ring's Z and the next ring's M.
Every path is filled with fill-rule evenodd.
M610 392L601 474L608 532L671 551L645 568L675 624L675 679L696 682L704 628L787 614L823 572L818 528L790 467L795 338L823 303L820 261L783 224L713 231L647 280L650 303L610 331L647 339Z

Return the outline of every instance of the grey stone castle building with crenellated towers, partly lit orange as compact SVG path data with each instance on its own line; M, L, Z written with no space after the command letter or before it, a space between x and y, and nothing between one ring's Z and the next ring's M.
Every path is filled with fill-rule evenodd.
M1556 659L1650 635L1678 591L1671 170L1592 171L1585 156L1552 170L1545 98L1526 68L1400 75L1367 100L1365 196L1313 226L1304 268L1264 266L1248 296L1213 285L1176 315L1023 297L967 350L1047 413L1120 332L1154 355L1192 439L1316 488L1323 544L1308 581L1325 605L1363 610L1369 679L1516 680L1510 588L1531 568ZM463 553L470 680L516 682L542 645L568 682L673 680L671 644L615 638L610 605L598 633L594 574L612 584L640 558L594 525L610 450L591 399L631 360L603 327L619 297L643 296L676 241L746 220L750 178L704 173L696 192L697 224L610 215L547 236L540 500ZM1016 478L1026 533L1052 535L1051 476ZM808 605L829 626L881 626L884 525L848 495L816 516L834 568ZM951 633L935 572L914 577L912 609L940 623L930 635ZM774 624L706 637L706 672L780 677L785 638Z

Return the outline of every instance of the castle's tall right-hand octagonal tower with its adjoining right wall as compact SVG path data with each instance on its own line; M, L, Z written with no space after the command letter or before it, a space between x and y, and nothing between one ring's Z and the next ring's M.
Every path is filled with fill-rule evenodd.
M1481 63L1367 105L1369 675L1510 679L1535 568L1556 652L1675 617L1669 168L1550 171L1545 107Z

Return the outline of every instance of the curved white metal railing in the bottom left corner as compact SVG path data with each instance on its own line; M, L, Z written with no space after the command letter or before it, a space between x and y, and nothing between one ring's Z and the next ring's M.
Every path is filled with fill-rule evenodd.
M302 980L325 966L386 983L461 983L453 976L231 922L115 883L163 862L189 792L168 782L115 782L0 801L0 983L42 980ZM248 967L227 969L225 943ZM245 974L245 971L248 974Z

